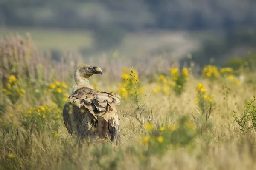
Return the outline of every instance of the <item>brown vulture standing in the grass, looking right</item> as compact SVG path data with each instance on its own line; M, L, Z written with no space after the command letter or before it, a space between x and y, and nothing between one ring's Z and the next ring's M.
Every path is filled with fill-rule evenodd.
M121 97L112 92L94 90L88 79L93 74L102 74L102 69L85 64L76 68L76 85L63 108L64 124L71 135L118 144L120 129L116 107L120 105Z

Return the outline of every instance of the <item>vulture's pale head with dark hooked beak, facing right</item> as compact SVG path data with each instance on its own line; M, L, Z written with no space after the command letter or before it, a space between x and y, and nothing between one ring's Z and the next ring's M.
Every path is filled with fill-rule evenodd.
M79 80L81 82L82 79L88 79L93 74L99 73L102 74L101 68L83 64L76 68L74 76L75 80Z

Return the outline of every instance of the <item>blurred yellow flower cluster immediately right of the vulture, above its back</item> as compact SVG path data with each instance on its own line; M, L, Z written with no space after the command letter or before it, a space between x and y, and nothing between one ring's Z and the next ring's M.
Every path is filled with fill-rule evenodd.
M118 94L126 99L135 93L142 94L145 91L144 87L140 87L139 75L135 69L123 68L119 83Z

